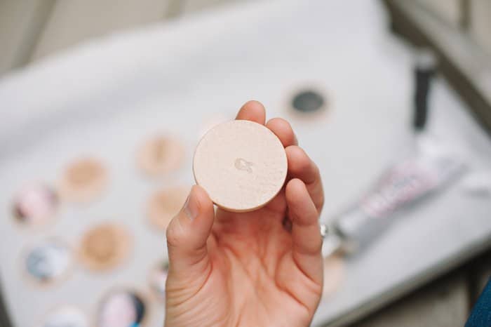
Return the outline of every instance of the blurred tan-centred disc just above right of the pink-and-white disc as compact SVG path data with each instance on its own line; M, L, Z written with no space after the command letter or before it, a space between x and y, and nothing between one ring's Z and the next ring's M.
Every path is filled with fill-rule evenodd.
M107 185L105 166L93 158L70 163L60 181L60 194L69 201L90 201L99 196Z

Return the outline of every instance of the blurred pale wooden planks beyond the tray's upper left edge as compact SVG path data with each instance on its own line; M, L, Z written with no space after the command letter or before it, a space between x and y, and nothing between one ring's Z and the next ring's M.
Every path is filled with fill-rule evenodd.
M109 0L100 4L2 0L0 74L83 41L233 1L240 0Z

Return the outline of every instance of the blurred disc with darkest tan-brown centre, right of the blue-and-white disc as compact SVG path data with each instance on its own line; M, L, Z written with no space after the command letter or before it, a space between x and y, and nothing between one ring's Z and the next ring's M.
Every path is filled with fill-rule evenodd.
M80 244L81 261L96 271L112 269L128 256L130 235L124 227L103 223L89 229Z

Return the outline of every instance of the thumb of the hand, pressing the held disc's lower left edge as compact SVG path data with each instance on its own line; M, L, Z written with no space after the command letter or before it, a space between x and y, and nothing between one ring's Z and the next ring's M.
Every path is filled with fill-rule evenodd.
M210 267L206 241L214 218L210 197L194 185L181 211L167 227L169 274L193 278Z

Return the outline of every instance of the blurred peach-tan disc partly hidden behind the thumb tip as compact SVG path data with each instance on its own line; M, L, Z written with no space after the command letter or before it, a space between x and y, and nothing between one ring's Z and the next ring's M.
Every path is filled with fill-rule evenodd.
M170 220L181 210L189 187L168 187L152 195L148 203L148 218L152 225L166 230Z

